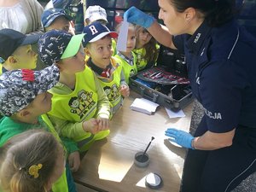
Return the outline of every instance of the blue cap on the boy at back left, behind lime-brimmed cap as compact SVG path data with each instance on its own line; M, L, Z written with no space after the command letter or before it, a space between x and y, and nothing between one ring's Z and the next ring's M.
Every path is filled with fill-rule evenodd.
M48 27L50 24L60 16L64 16L67 18L67 20L73 20L73 18L65 12L64 9L55 9L55 8L50 8L47 10L44 10L43 14L41 15L41 22L42 26Z

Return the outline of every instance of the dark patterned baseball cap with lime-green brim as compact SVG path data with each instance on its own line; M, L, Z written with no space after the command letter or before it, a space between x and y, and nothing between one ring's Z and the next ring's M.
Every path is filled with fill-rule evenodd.
M79 52L84 34L71 35L60 30L45 32L38 40L38 55L44 64L51 66Z

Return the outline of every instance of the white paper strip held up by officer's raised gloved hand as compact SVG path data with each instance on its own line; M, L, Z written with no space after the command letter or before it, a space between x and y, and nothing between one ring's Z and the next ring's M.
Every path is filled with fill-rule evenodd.
M116 49L119 51L126 51L127 36L128 36L129 23L124 20L119 30L119 38L116 44Z

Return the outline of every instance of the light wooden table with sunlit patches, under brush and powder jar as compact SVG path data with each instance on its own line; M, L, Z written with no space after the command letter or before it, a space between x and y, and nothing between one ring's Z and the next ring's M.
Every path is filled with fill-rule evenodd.
M157 191L177 192L183 169L184 148L168 142L164 132L168 127L189 131L192 103L183 109L184 118L170 119L163 107L154 115L138 113L130 109L138 96L131 92L111 121L108 138L94 143L81 161L75 181L96 191L139 192L156 191L145 187L145 176L158 173L163 186ZM139 168L133 164L134 155L148 148L149 166Z

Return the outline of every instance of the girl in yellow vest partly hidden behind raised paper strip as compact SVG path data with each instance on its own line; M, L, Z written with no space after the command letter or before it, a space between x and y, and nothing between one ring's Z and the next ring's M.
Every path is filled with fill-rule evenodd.
M117 26L117 32L119 32L119 27L121 26L121 24L122 23ZM114 55L114 57L118 58L121 61L121 65L123 66L125 73L125 81L127 84L129 84L129 78L137 74L137 58L136 55L132 52L132 50L135 48L135 44L135 26L133 24L129 24L126 51L117 51L117 55Z

